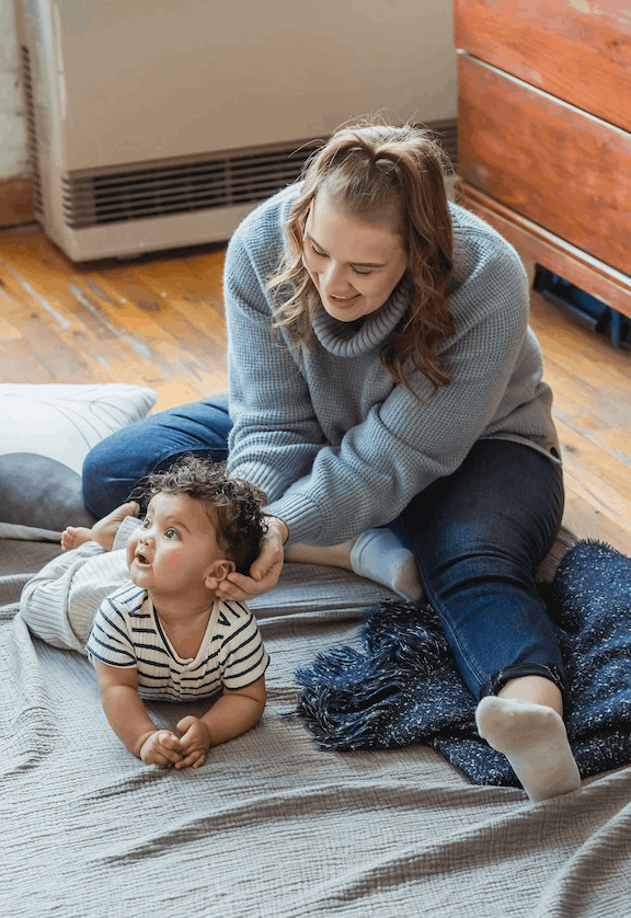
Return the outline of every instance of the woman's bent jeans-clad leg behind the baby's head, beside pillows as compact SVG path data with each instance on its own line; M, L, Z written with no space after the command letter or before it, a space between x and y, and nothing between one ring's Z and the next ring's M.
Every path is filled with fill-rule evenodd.
M217 395L151 414L118 431L85 458L85 506L101 519L129 500L141 478L169 468L182 454L227 459L231 426L228 397Z

